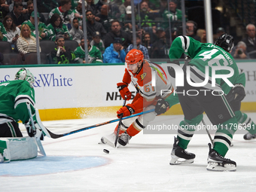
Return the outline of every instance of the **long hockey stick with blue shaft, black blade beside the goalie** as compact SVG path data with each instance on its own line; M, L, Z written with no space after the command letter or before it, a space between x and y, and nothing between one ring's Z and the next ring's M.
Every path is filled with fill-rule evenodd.
M153 112L154 111L154 108L153 109L151 109L151 110L148 110L148 111L142 111L142 112L140 112L140 113L138 113L138 114L132 114L132 115L130 115L130 116L128 116L128 117L123 117L122 118L122 120L125 120L125 119L129 119L129 118L132 118L132 117L136 117L136 116L139 116L139 115L142 115L142 114L148 114L148 113L151 113L151 112ZM37 120L38 120L39 118L37 117ZM90 129L93 129L93 128L95 128L95 127L97 127L97 126L102 126L102 125L106 125L106 124L109 124L109 123L114 123L114 122L117 122L117 121L119 121L120 119L118 118L118 119L114 119L114 120L108 120L108 121L105 121L105 122L103 122L103 123L97 123L97 124L95 124L95 125L92 125L92 126L87 126L87 127L84 127L84 128L81 128L81 129L79 129L79 130L74 130L74 131L71 131L71 132L69 132L69 133L62 133L62 134L55 134L55 133L52 133L52 132L50 132L50 130L48 130L46 127L44 127L45 129L43 130L44 131L44 134L46 135L46 136L48 136L48 137L50 137L50 138L53 138L53 139L57 139L57 138L60 138L60 137L63 137L63 136L69 136L69 135L72 135L72 134L74 134L74 133L78 133L78 132L81 132L81 131L84 131L84 130L90 130Z

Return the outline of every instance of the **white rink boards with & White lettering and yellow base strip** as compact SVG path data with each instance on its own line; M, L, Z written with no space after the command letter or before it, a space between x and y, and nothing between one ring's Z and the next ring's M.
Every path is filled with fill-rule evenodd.
M256 111L255 62L237 64L246 76L242 111ZM8 81L14 79L20 66L1 68L0 81ZM122 105L117 83L123 79L124 65L33 65L26 68L35 76L35 101L41 120L112 117ZM135 96L135 88L132 85L129 88ZM180 105L173 106L167 114L182 114Z

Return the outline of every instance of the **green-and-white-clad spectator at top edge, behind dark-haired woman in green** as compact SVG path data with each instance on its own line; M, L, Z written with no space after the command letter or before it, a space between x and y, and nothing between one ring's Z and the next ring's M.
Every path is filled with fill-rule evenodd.
M72 17L71 11L71 0L60 0L60 7L54 8L50 11L49 18L53 16L53 14L59 14L60 18L62 19L62 23L68 28L71 29L70 19Z

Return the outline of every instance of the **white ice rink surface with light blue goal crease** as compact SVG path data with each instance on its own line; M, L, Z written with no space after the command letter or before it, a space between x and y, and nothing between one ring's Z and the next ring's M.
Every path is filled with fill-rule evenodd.
M256 120L256 113L248 115ZM53 133L67 133L114 118L43 123ZM183 115L160 116L154 123L178 125L182 119ZM226 155L236 161L236 172L209 172L209 137L205 130L196 132L187 148L196 154L195 162L170 166L175 132L139 133L126 147L99 145L100 138L112 133L116 124L59 139L45 138L42 144L47 157L0 164L0 191L255 191L256 139L245 141L244 130L235 134L234 146ZM110 153L105 154L104 148Z

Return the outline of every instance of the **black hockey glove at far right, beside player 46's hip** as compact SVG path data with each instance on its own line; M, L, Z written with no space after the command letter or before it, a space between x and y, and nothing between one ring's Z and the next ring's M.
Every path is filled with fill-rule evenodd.
M235 84L235 86L227 94L228 101L241 102L245 98L245 87L242 84Z

